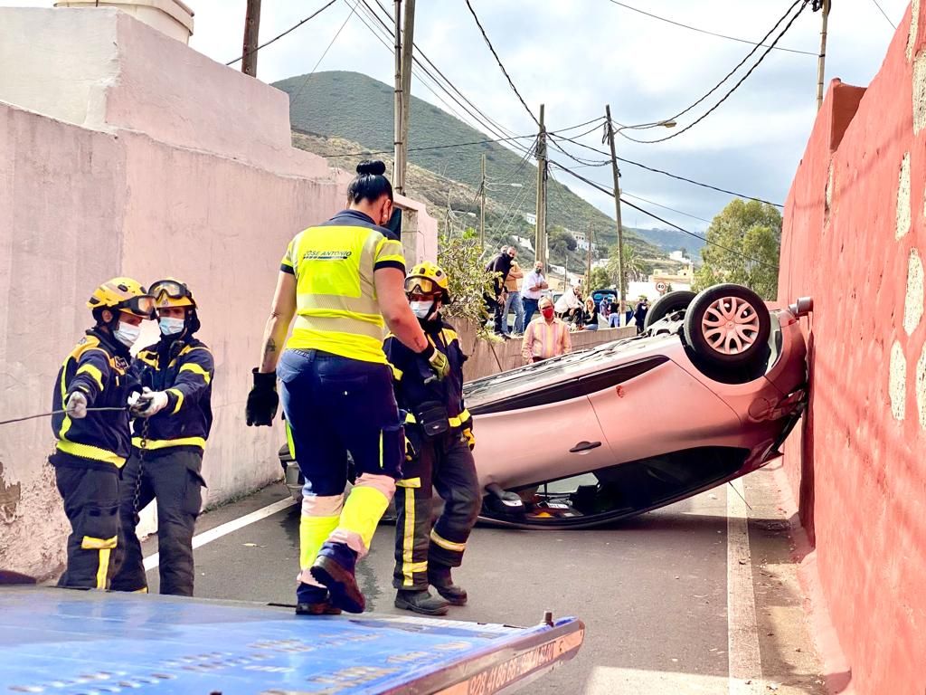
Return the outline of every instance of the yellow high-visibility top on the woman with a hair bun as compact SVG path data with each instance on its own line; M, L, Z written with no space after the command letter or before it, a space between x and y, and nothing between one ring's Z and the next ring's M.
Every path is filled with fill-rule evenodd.
M405 272L402 245L357 210L296 234L282 272L296 279L296 320L286 347L386 363L373 272Z

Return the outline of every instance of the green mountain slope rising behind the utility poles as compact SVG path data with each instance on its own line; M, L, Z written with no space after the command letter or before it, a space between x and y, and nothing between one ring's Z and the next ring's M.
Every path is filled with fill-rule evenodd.
M393 88L357 72L317 72L275 82L274 86L291 98L290 120L294 130L294 145L317 154L336 157L344 169L350 171L357 161L366 158L357 149L345 145L360 145L361 150L377 152L375 158L391 160L393 149ZM458 120L417 97L412 97L409 124L409 165L420 168L416 180L414 171L408 173L409 188L422 194L432 214L441 216L447 206L457 215L478 212L475 192L481 180L481 159L486 156L486 175L490 182L487 204L487 237L494 243L506 243L514 234L533 237L533 227L522 213L532 213L536 200L537 169L525 162L521 153L498 143L444 147L458 143L476 143L491 139L466 123ZM344 142L346 141L346 143ZM529 139L519 141L524 147ZM442 147L439 149L419 149ZM423 177L421 171L430 172ZM421 191L420 185L426 190ZM515 184L515 185L512 185ZM547 184L548 221L569 230L584 232L591 223L595 237L603 245L616 243L614 221L601 210L575 195L551 178ZM464 220L470 226L478 221ZM638 234L629 231L627 243L635 246L644 257L661 257L664 254L646 243ZM577 257L578 258L578 257Z

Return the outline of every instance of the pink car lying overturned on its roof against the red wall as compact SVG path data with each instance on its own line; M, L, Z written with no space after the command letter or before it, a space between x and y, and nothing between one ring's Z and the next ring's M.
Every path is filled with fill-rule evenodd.
M672 292L643 335L470 382L482 519L592 526L780 456L806 403L811 310L769 310L735 284Z

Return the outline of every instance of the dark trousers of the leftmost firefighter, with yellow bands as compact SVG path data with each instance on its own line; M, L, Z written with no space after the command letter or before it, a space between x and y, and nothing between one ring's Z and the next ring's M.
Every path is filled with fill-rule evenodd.
M119 562L119 469L58 465L55 481L71 528L58 586L109 588Z

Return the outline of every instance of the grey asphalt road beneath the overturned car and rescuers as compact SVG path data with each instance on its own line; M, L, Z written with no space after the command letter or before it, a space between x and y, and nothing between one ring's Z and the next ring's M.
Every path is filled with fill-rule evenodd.
M477 528L455 573L469 591L469 605L452 608L448 617L508 625L538 623L544 610L581 617L587 632L580 655L532 684L538 695L726 693L737 686L743 692L822 692L799 589L788 570L787 524L769 525L770 518L753 522L760 525L751 545L765 676L756 683L773 688L730 682L727 491L733 494L721 487L605 529ZM766 492L747 486L750 498ZM282 485L272 486L205 514L197 532L284 497ZM293 506L198 548L196 595L292 603L298 524L299 508ZM382 525L358 567L369 610L381 613L404 613L393 606L393 534L394 526ZM153 552L156 543L149 539L145 547ZM774 566L764 564L769 558ZM156 574L149 573L152 591Z

